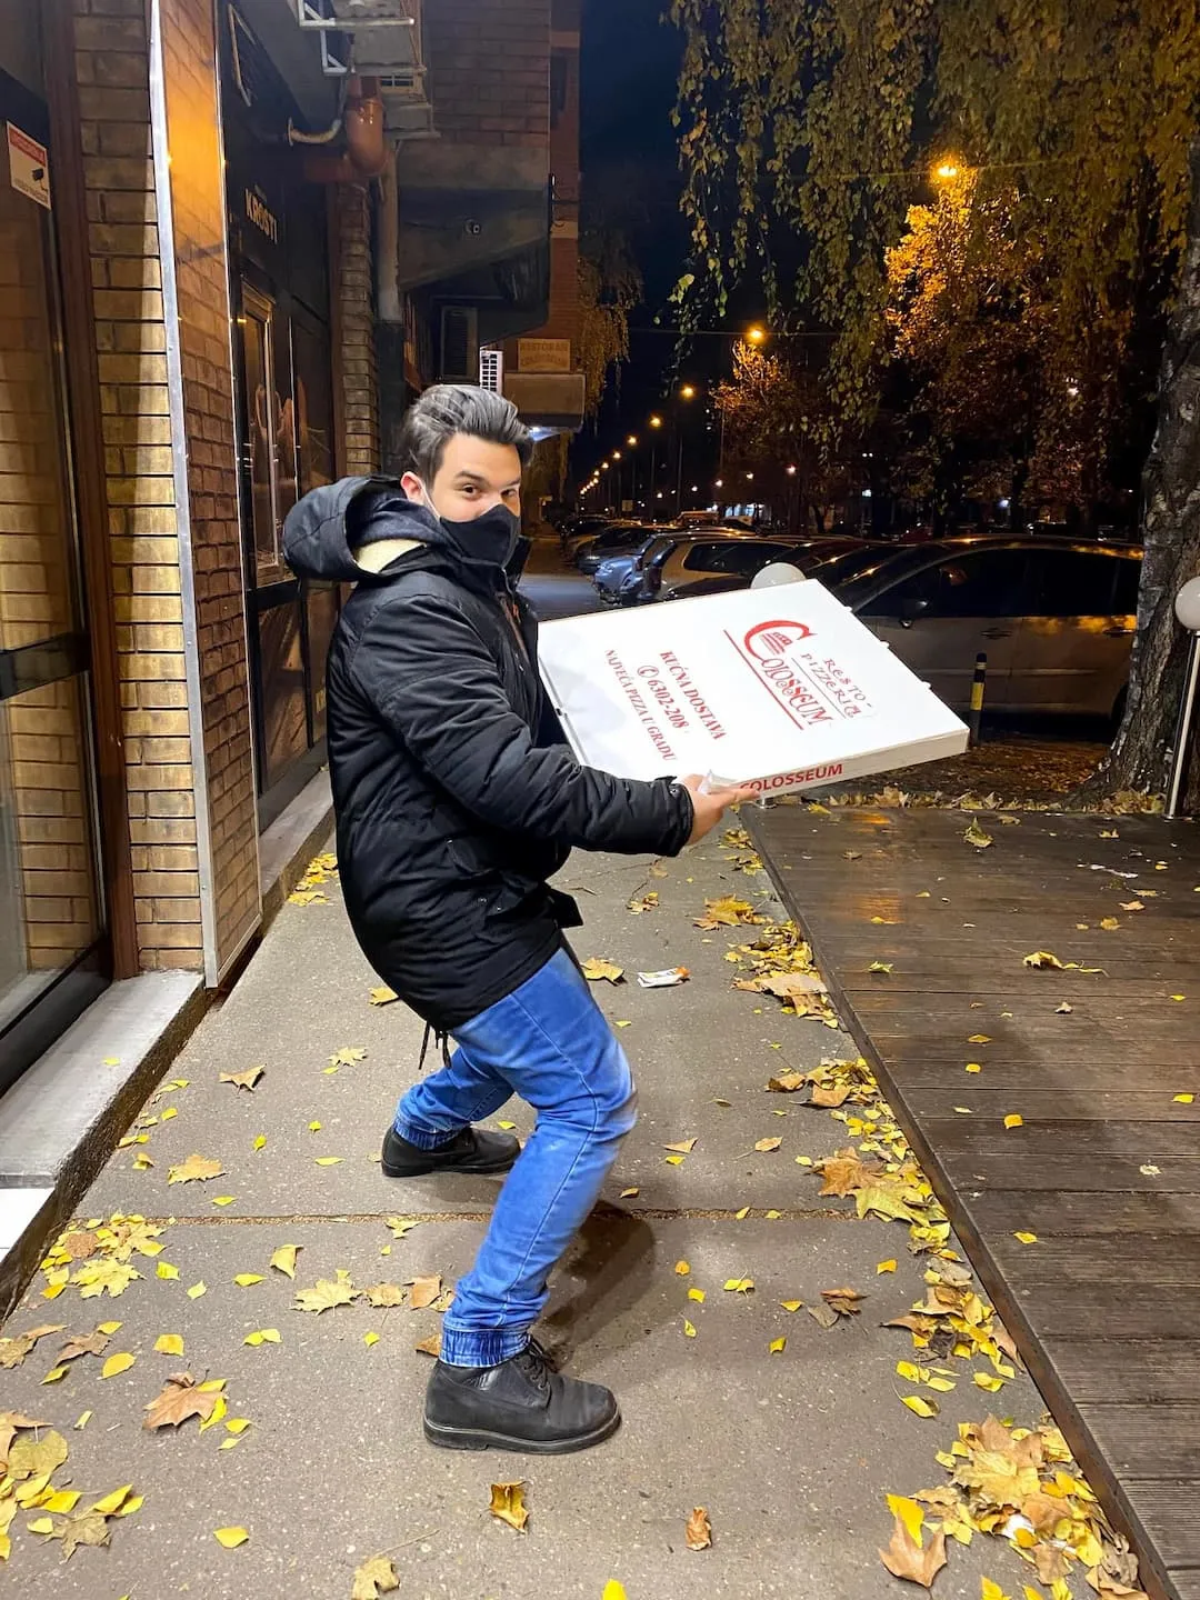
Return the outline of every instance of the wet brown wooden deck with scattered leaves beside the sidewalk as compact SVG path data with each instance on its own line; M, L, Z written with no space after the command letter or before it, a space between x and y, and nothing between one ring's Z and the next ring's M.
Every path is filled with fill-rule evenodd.
M966 822L750 830L1147 1589L1200 1600L1200 827L984 813L974 850Z

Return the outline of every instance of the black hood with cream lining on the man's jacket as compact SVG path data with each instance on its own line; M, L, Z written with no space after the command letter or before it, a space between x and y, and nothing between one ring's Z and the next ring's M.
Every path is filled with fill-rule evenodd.
M424 546L411 554L413 560L438 552L453 566L504 568L509 574L523 566L528 552L525 539L517 539L514 550L510 534L491 517L480 518L478 530L470 523L446 525L427 506L408 499L398 478L370 477L325 483L298 501L283 523L283 557L298 578L360 582L381 574L360 566L354 552L379 539Z

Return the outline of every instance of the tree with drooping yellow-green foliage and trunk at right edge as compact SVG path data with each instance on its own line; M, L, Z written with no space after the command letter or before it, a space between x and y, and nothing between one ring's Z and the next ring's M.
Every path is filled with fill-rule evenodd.
M1123 366L1146 286L1173 298L1128 712L1101 774L1109 789L1160 789L1182 661L1171 600L1200 570L1197 8L674 0L672 18L696 288L720 309L754 269L773 318L803 307L834 328L830 379L848 414L877 392L886 250L931 163L978 171L973 230L1002 192L1016 235L1040 230L1066 370L1106 373L1114 354Z

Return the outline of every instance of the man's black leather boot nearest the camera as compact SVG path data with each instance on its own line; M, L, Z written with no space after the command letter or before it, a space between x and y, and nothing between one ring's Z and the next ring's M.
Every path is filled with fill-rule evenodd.
M525 1450L565 1456L621 1426L616 1395L563 1378L534 1341L499 1366L438 1362L426 1390L426 1438L446 1450Z

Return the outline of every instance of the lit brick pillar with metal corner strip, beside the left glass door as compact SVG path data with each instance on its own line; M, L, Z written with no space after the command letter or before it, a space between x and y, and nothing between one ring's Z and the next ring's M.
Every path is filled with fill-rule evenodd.
M166 357L146 5L74 5L139 958L205 965L203 870L216 909L210 966L222 966L258 918L258 866L211 16L200 0L165 8L179 373Z

